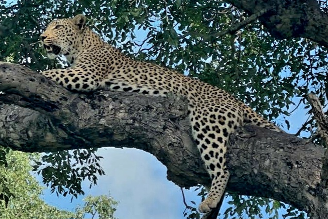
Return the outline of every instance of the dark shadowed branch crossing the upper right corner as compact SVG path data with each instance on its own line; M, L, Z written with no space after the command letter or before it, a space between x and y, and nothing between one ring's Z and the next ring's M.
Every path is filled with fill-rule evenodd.
M227 0L249 15L270 11L259 19L276 38L304 37L327 47L328 14L317 0Z

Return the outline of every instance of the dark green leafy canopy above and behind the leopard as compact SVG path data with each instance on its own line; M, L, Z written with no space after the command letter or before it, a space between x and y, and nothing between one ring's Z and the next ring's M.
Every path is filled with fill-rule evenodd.
M84 13L94 31L123 52L221 87L268 118L288 117L299 102L306 103L309 91L326 97L325 47L304 38L276 39L259 20L229 34L231 27L248 18L232 4L221 0L90 3L3 1L1 59L35 70L53 67L42 56L39 34L54 18ZM228 33L218 34L224 31ZM284 120L277 122L286 125Z

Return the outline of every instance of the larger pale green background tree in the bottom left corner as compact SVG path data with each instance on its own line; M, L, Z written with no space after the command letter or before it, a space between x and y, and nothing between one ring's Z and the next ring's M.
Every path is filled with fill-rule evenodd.
M0 150L3 150L3 147L0 147ZM13 152L6 149L7 165L0 166L0 182L10 191L12 197L7 203L0 202L1 219L63 219L73 217L73 213L59 210L40 199L39 196L44 188L30 173L32 170L30 159L37 159L38 157L37 154Z

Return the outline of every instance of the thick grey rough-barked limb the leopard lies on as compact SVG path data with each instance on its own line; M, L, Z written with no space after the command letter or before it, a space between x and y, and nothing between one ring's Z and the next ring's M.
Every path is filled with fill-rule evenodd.
M129 147L152 153L177 185L209 185L190 138L186 101L99 91L78 94L19 65L0 63L0 145L23 152ZM2 104L1 104L2 102ZM228 190L328 215L319 187L325 150L293 135L246 126L231 136Z

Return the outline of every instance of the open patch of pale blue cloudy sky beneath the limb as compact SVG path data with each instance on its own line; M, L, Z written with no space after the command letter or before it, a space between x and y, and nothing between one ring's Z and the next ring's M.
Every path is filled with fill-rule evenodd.
M184 205L180 187L166 179L166 168L148 152L136 149L103 148L101 166L106 175L99 177L98 185L88 188L85 195L110 194L119 201L115 217L120 219L182 219ZM187 199L195 194L185 191ZM57 197L49 189L44 200L53 206L73 211L82 204L80 197ZM199 199L199 198L197 198Z

